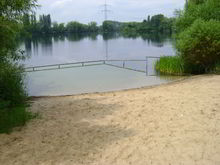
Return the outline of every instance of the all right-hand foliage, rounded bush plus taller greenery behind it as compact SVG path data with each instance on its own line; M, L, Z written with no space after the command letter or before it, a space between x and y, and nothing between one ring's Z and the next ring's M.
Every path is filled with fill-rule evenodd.
M193 74L218 71L220 1L189 0L177 16L176 48L184 61L184 71Z

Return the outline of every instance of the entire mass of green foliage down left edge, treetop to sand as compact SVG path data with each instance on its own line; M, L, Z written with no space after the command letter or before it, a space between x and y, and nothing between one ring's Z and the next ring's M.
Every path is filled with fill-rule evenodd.
M21 67L17 62L24 53L17 50L21 17L35 7L35 0L0 1L0 132L24 124L26 92ZM12 111L13 110L13 111ZM24 113L19 113L19 111ZM13 113L13 112L17 113ZM20 112L21 112L20 111ZM17 116L16 114L20 114ZM11 120L11 119L16 119ZM13 122L14 124L10 124Z

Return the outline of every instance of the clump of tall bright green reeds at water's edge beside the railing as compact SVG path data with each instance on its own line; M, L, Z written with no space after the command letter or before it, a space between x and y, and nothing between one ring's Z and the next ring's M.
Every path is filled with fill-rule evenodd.
M161 57L156 62L156 71L161 74L184 75L184 62L179 56Z

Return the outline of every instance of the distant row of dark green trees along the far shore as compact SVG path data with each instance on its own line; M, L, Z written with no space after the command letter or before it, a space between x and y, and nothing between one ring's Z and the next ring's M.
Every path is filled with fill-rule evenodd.
M71 21L67 24L52 22L50 15L40 15L37 20L36 15L23 16L23 35L38 34L64 34L64 33L85 33L85 32L122 32L127 35L143 33L172 33L174 18L167 18L162 14L148 16L143 22L116 22L104 21L101 26L96 22L82 24Z

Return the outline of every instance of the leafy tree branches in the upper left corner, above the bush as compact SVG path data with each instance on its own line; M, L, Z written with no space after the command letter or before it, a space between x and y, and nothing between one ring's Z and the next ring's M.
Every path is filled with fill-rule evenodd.
M16 37L19 34L21 16L36 7L36 0L0 2L0 62L17 60L23 57L16 51Z

